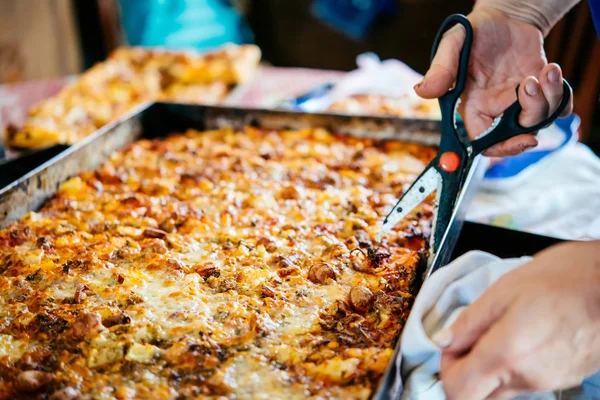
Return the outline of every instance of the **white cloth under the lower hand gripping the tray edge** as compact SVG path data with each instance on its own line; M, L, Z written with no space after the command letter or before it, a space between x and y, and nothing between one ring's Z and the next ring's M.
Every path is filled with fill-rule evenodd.
M460 312L498 278L530 259L502 260L488 253L472 251L436 271L425 281L401 337L402 356L397 364L404 378L402 400L445 398L442 383L436 378L441 351L430 338L450 326ZM551 394L540 396L528 398L554 399Z

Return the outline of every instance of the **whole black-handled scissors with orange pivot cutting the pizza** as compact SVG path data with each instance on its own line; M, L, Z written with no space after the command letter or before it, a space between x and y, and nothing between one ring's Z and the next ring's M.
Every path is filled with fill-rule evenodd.
M465 28L466 37L460 52L455 86L439 98L442 114L442 135L438 154L392 208L384 219L378 235L381 239L385 233L389 232L431 193L436 191L437 199L430 240L433 254L438 252L449 231L461 189L467 180L469 169L475 157L496 143L523 133L535 134L538 130L549 126L569 104L571 96L571 87L563 79L563 98L556 111L539 124L525 128L518 122L521 105L519 104L519 87L517 86L517 101L508 107L500 117L496 118L492 126L479 138L470 140L466 130L457 127L456 124L456 110L465 88L469 56L473 43L473 27L464 15L454 14L444 21L433 43L431 59L433 60L444 33L456 24L460 24Z

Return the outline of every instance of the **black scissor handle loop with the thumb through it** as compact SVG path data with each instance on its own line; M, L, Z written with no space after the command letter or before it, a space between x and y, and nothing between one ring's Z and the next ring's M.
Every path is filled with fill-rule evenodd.
M456 83L454 88L451 89L444 96L440 97L440 105L442 106L442 110L446 109L443 106L443 102L450 101L452 102L451 107L452 113L454 113L454 103L462 94L462 91L465 88L465 83L467 82L467 71L469 69L469 57L471 56L471 45L473 44L473 27L471 26L471 22L461 14L453 14L446 18L440 30L438 31L435 40L433 41L433 47L431 49L431 61L435 57L435 53L437 53L438 47L444 36L444 33L449 31L454 25L460 24L465 28L465 41L463 47L460 51L460 59L458 64L458 73L456 75ZM453 115L450 116L453 119Z

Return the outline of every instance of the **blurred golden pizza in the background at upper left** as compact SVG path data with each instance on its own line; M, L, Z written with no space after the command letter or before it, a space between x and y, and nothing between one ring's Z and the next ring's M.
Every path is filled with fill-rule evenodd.
M6 143L27 149L73 144L147 101L217 104L252 76L259 61L253 45L208 54L119 48L32 108L21 128L8 126Z

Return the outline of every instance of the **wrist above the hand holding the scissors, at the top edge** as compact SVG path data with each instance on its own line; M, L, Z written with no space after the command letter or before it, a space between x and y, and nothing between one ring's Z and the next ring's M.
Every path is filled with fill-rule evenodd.
M580 0L477 0L475 10L492 9L537 26L546 36Z

